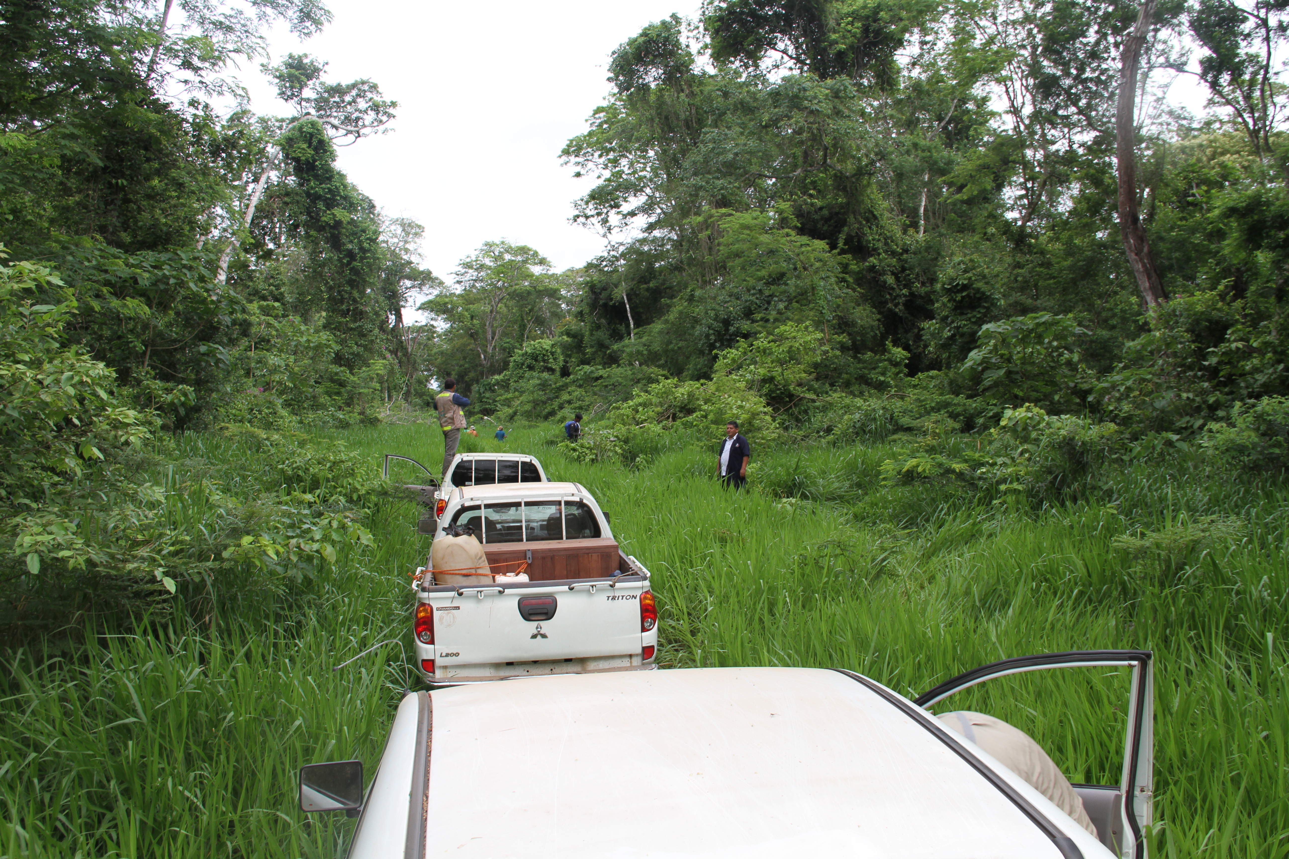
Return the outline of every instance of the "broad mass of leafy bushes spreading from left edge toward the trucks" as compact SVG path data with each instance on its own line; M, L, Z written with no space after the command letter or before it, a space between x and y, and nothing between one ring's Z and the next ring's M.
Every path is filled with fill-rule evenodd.
M184 589L272 594L370 541L357 507L385 487L370 461L334 442L241 428L227 434L226 461L177 477L195 466L155 434L156 416L128 407L115 373L66 343L76 303L35 304L37 294L62 296L49 269L0 265L6 628L82 610L164 612ZM294 420L271 394L247 392L244 403L262 425Z

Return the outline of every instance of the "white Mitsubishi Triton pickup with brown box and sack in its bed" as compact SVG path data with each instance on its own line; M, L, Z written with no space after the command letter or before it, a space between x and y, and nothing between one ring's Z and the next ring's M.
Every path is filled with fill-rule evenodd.
M486 569L416 581L416 666L432 685L654 667L657 608L650 573L614 540L576 483L458 487L436 540L473 529ZM431 552L433 558L433 551ZM528 581L503 576L522 572ZM437 583L451 574L467 583Z

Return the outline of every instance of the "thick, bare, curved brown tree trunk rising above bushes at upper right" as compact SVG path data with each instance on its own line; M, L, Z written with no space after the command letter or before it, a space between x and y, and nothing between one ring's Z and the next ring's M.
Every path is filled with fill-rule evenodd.
M1156 310L1168 301L1164 282L1159 279L1155 261L1150 256L1146 228L1137 210L1137 68L1141 50L1146 45L1150 21L1155 15L1156 0L1142 0L1141 14L1132 32L1124 39L1123 64L1119 70L1119 109L1115 115L1115 155L1119 160L1119 232L1124 240L1124 252L1132 265L1137 287L1147 310Z

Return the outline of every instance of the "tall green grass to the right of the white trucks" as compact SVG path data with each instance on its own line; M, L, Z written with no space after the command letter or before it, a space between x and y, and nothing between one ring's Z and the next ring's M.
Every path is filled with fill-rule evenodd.
M400 428L406 449L434 458L415 429ZM534 452L596 493L654 572L672 666L837 666L913 695L1011 656L1152 649L1159 855L1289 855L1289 487L1181 457L1034 511L884 488L888 448L797 446L758 455L753 491L728 493L718 438L637 470L570 461L558 428L467 444ZM1207 537L1214 518L1227 527ZM1156 549L1116 543L1133 536ZM1069 670L937 708L995 712L1072 780L1114 783L1125 702L1127 675Z

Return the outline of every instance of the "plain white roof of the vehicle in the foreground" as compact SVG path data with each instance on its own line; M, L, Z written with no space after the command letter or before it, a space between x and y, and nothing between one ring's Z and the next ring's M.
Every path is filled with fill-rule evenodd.
M425 856L1114 855L1011 770L858 675L534 677L440 689L420 708L425 817L369 807L356 859L391 855L380 844L419 855L403 846L422 833ZM412 769L416 713L409 695L382 770ZM394 791L406 809L407 788Z

